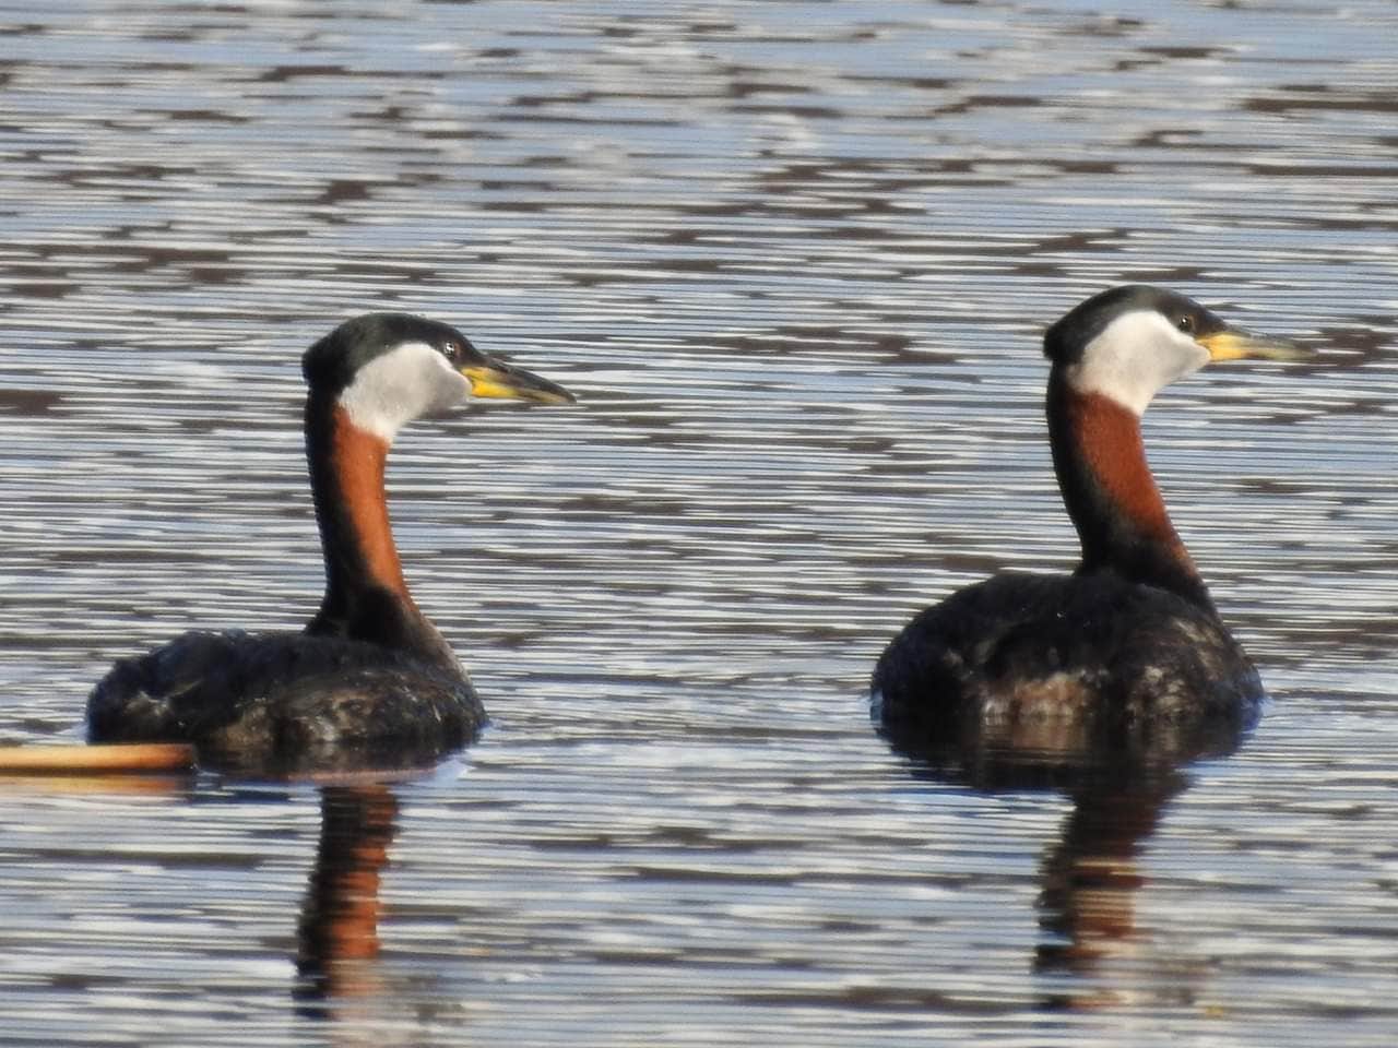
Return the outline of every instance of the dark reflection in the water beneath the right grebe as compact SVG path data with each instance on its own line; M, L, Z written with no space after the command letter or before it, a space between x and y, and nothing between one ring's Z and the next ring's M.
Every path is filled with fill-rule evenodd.
M1081 722L1055 732L1037 724L1028 735L1005 731L993 738L979 727L959 734L882 731L918 778L984 794L1071 798L1072 810L1040 862L1043 935L1032 967L1044 978L1043 1009L1110 1010L1139 1005L1142 994L1169 1003L1192 996L1190 966L1146 959L1149 942L1137 928L1135 908L1149 878L1138 857L1188 787L1186 766L1233 753L1251 727L1194 724L1149 736L1095 735Z

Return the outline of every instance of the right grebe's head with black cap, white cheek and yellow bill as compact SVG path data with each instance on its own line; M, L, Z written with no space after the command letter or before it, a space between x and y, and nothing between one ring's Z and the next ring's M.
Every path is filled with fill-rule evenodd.
M1198 302L1146 284L1093 295L1044 333L1044 356L1069 387L1138 415L1165 386L1211 361L1297 355L1289 342L1229 327Z

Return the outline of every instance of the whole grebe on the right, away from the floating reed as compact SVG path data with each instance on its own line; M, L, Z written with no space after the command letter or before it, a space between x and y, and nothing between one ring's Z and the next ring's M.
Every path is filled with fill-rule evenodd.
M905 745L1121 750L1181 729L1246 731L1262 685L1170 524L1141 415L1209 361L1300 354L1183 295L1130 285L1053 324L1044 355L1054 471L1082 563L1071 576L1000 574L916 616L874 671L875 720Z

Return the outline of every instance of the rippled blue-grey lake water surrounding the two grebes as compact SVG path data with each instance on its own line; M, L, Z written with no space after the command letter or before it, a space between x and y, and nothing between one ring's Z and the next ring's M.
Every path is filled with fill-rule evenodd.
M319 599L298 356L407 309L575 409L390 470L485 736L0 789L13 1045L1391 1045L1398 7L0 6L0 742ZM871 729L916 609L1071 566L1043 327L1290 334L1152 463L1274 701L1120 789Z

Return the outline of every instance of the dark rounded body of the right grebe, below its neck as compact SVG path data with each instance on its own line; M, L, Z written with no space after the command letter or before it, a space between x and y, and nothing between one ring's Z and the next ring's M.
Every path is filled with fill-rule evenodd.
M879 660L874 714L928 732L1123 741L1180 725L1246 729L1257 669L1211 611L1110 572L1005 573L914 618Z

